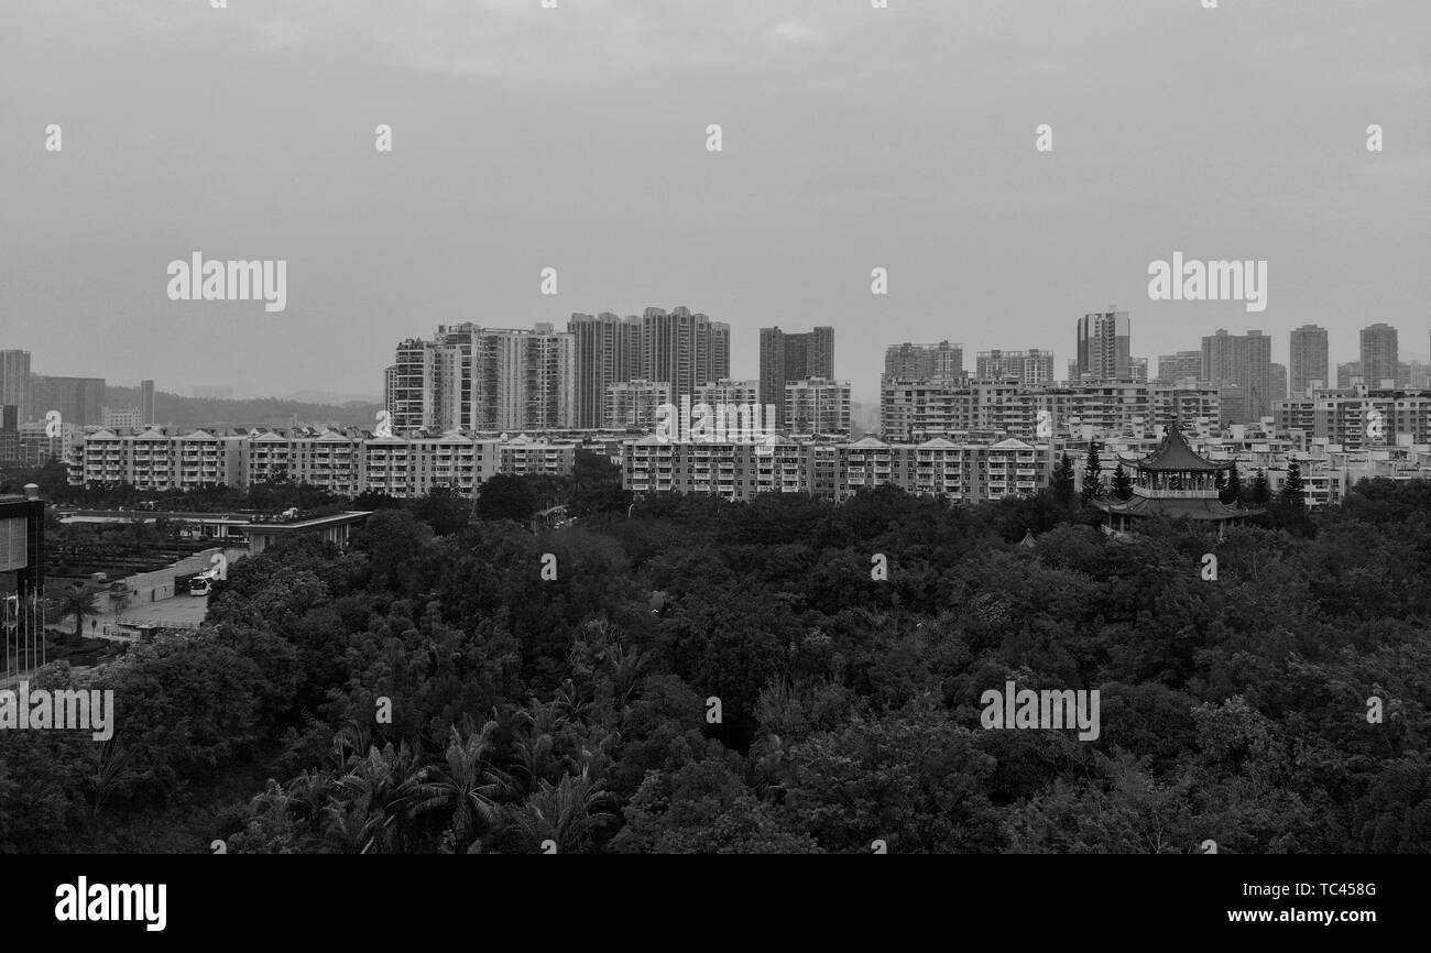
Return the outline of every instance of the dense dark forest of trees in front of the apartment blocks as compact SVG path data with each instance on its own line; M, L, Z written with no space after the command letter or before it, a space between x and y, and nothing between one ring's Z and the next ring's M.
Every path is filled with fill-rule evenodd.
M1431 850L1428 484L1128 542L1053 491L588 492L541 535L381 509L235 564L196 637L43 671L117 728L0 733L0 850ZM1006 680L1099 690L1099 737L982 728Z

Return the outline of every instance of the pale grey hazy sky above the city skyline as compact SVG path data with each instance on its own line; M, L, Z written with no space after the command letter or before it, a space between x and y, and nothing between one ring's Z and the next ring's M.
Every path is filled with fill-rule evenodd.
M195 250L286 259L286 311L170 302ZM1149 300L1173 250L1268 260L1266 311ZM40 373L376 395L438 323L648 305L730 322L736 376L833 325L867 401L900 341L1062 376L1109 305L1149 358L1315 322L1348 361L1387 321L1407 359L1428 252L1425 0L0 7L0 348Z

